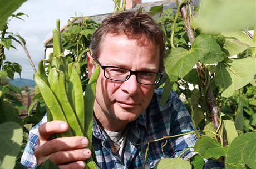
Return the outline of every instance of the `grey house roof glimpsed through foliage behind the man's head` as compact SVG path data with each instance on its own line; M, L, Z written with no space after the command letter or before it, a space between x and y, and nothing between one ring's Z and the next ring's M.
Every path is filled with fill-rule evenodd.
M160 6L163 4L163 9L167 9L167 8L173 8L176 7L176 1L175 0L164 0L164 1L155 1L155 2L146 2L146 3L137 3L132 9L129 10L136 10L140 7L144 8L145 11L149 11L149 9L151 7L154 6ZM105 13L105 14L98 14L98 15L94 15L94 16L90 16L90 18L97 22L97 23L101 23L110 13ZM82 17L78 17L78 18L74 18L71 20L72 23L76 23L76 22L81 22L82 21ZM65 29L68 27L68 24L66 24L64 27L61 28L61 32L65 31ZM52 47L52 41L53 36L48 38L43 44L45 44L45 47Z

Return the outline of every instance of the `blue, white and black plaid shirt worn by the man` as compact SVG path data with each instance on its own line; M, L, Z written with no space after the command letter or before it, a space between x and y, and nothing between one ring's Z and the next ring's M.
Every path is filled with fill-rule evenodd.
M124 147L124 157L121 161L111 152L110 142L97 122L93 121L93 149L99 163L98 168L153 168L162 158L182 157L185 160L194 155L193 145L196 142L195 134L183 135L169 139L150 142L146 161L145 152L147 142L194 131L191 117L178 96L171 92L168 101L160 106L163 89L156 89L150 105L142 112L137 120L130 124ZM36 168L36 158L33 155L37 148L38 126L47 121L47 116L31 129L29 139L24 150L21 163L27 168ZM224 168L219 161L205 160L205 169Z

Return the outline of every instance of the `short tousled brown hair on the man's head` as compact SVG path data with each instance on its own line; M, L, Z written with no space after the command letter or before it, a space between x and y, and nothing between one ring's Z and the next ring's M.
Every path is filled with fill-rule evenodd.
M125 34L131 39L140 39L142 35L145 35L151 42L159 45L160 70L164 69L165 34L160 26L141 9L119 11L104 19L101 26L92 35L90 48L95 57L99 56L102 42L108 33L113 35Z

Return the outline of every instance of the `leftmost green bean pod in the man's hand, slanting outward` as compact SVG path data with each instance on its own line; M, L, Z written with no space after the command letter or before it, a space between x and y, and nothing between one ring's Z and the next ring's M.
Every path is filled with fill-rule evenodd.
M62 120L67 122L65 115L63 114L60 103L49 88L49 86L40 78L38 73L34 74L34 80L40 93L42 94L43 100L45 100L46 106L51 112L51 116L53 120ZM73 136L71 129L69 128L66 132L61 134L62 137Z

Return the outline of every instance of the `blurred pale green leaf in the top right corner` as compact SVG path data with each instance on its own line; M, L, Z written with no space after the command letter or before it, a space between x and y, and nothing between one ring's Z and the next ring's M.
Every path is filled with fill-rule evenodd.
M202 0L193 25L208 32L253 30L255 21L255 0Z

